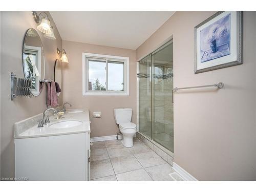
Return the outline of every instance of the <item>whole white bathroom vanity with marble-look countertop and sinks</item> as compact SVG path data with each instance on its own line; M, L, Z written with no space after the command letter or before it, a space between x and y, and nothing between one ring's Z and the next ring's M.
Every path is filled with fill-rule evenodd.
M37 127L42 114L14 124L15 178L30 181L90 180L89 110L70 110Z

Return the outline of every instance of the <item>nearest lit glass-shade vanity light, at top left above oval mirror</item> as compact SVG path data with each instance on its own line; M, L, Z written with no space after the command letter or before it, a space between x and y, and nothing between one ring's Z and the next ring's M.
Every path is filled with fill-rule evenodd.
M37 13L36 11L32 11L32 13L33 13L34 20L37 24L41 21L40 25L37 26L37 29L42 33L45 33L48 35L52 34L51 23L48 18L48 14L46 12ZM43 16L42 14L45 14L45 16Z

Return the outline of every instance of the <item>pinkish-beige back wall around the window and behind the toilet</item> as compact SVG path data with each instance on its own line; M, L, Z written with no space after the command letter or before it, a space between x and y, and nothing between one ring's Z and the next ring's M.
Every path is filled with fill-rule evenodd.
M132 108L132 122L136 123L136 60L135 50L62 41L69 64L63 65L63 102L70 102L73 109L90 110L91 137L115 135L119 132L114 119L114 108ZM129 57L130 96L82 96L82 53L96 53ZM93 118L93 112L101 111L101 118Z

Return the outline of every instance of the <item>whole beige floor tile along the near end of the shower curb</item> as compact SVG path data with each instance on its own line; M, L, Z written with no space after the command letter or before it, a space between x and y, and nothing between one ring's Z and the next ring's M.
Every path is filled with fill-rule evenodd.
M134 156L144 168L166 163L166 161L164 161L155 152L134 154Z

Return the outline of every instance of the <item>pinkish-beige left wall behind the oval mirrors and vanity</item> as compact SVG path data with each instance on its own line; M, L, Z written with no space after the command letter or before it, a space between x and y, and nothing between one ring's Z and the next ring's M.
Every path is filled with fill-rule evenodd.
M49 14L49 13L48 13ZM62 39L49 14L56 40L45 38L37 30L31 11L1 11L1 177L14 177L14 129L20 120L42 113L46 108L46 86L39 96L16 97L10 99L10 74L24 77L22 48L25 32L29 28L37 30L44 47L46 68L45 78L53 79L54 62L59 58L56 49L61 49ZM3 49L4 48L4 49ZM3 94L2 94L3 93ZM58 97L62 105L62 94Z

